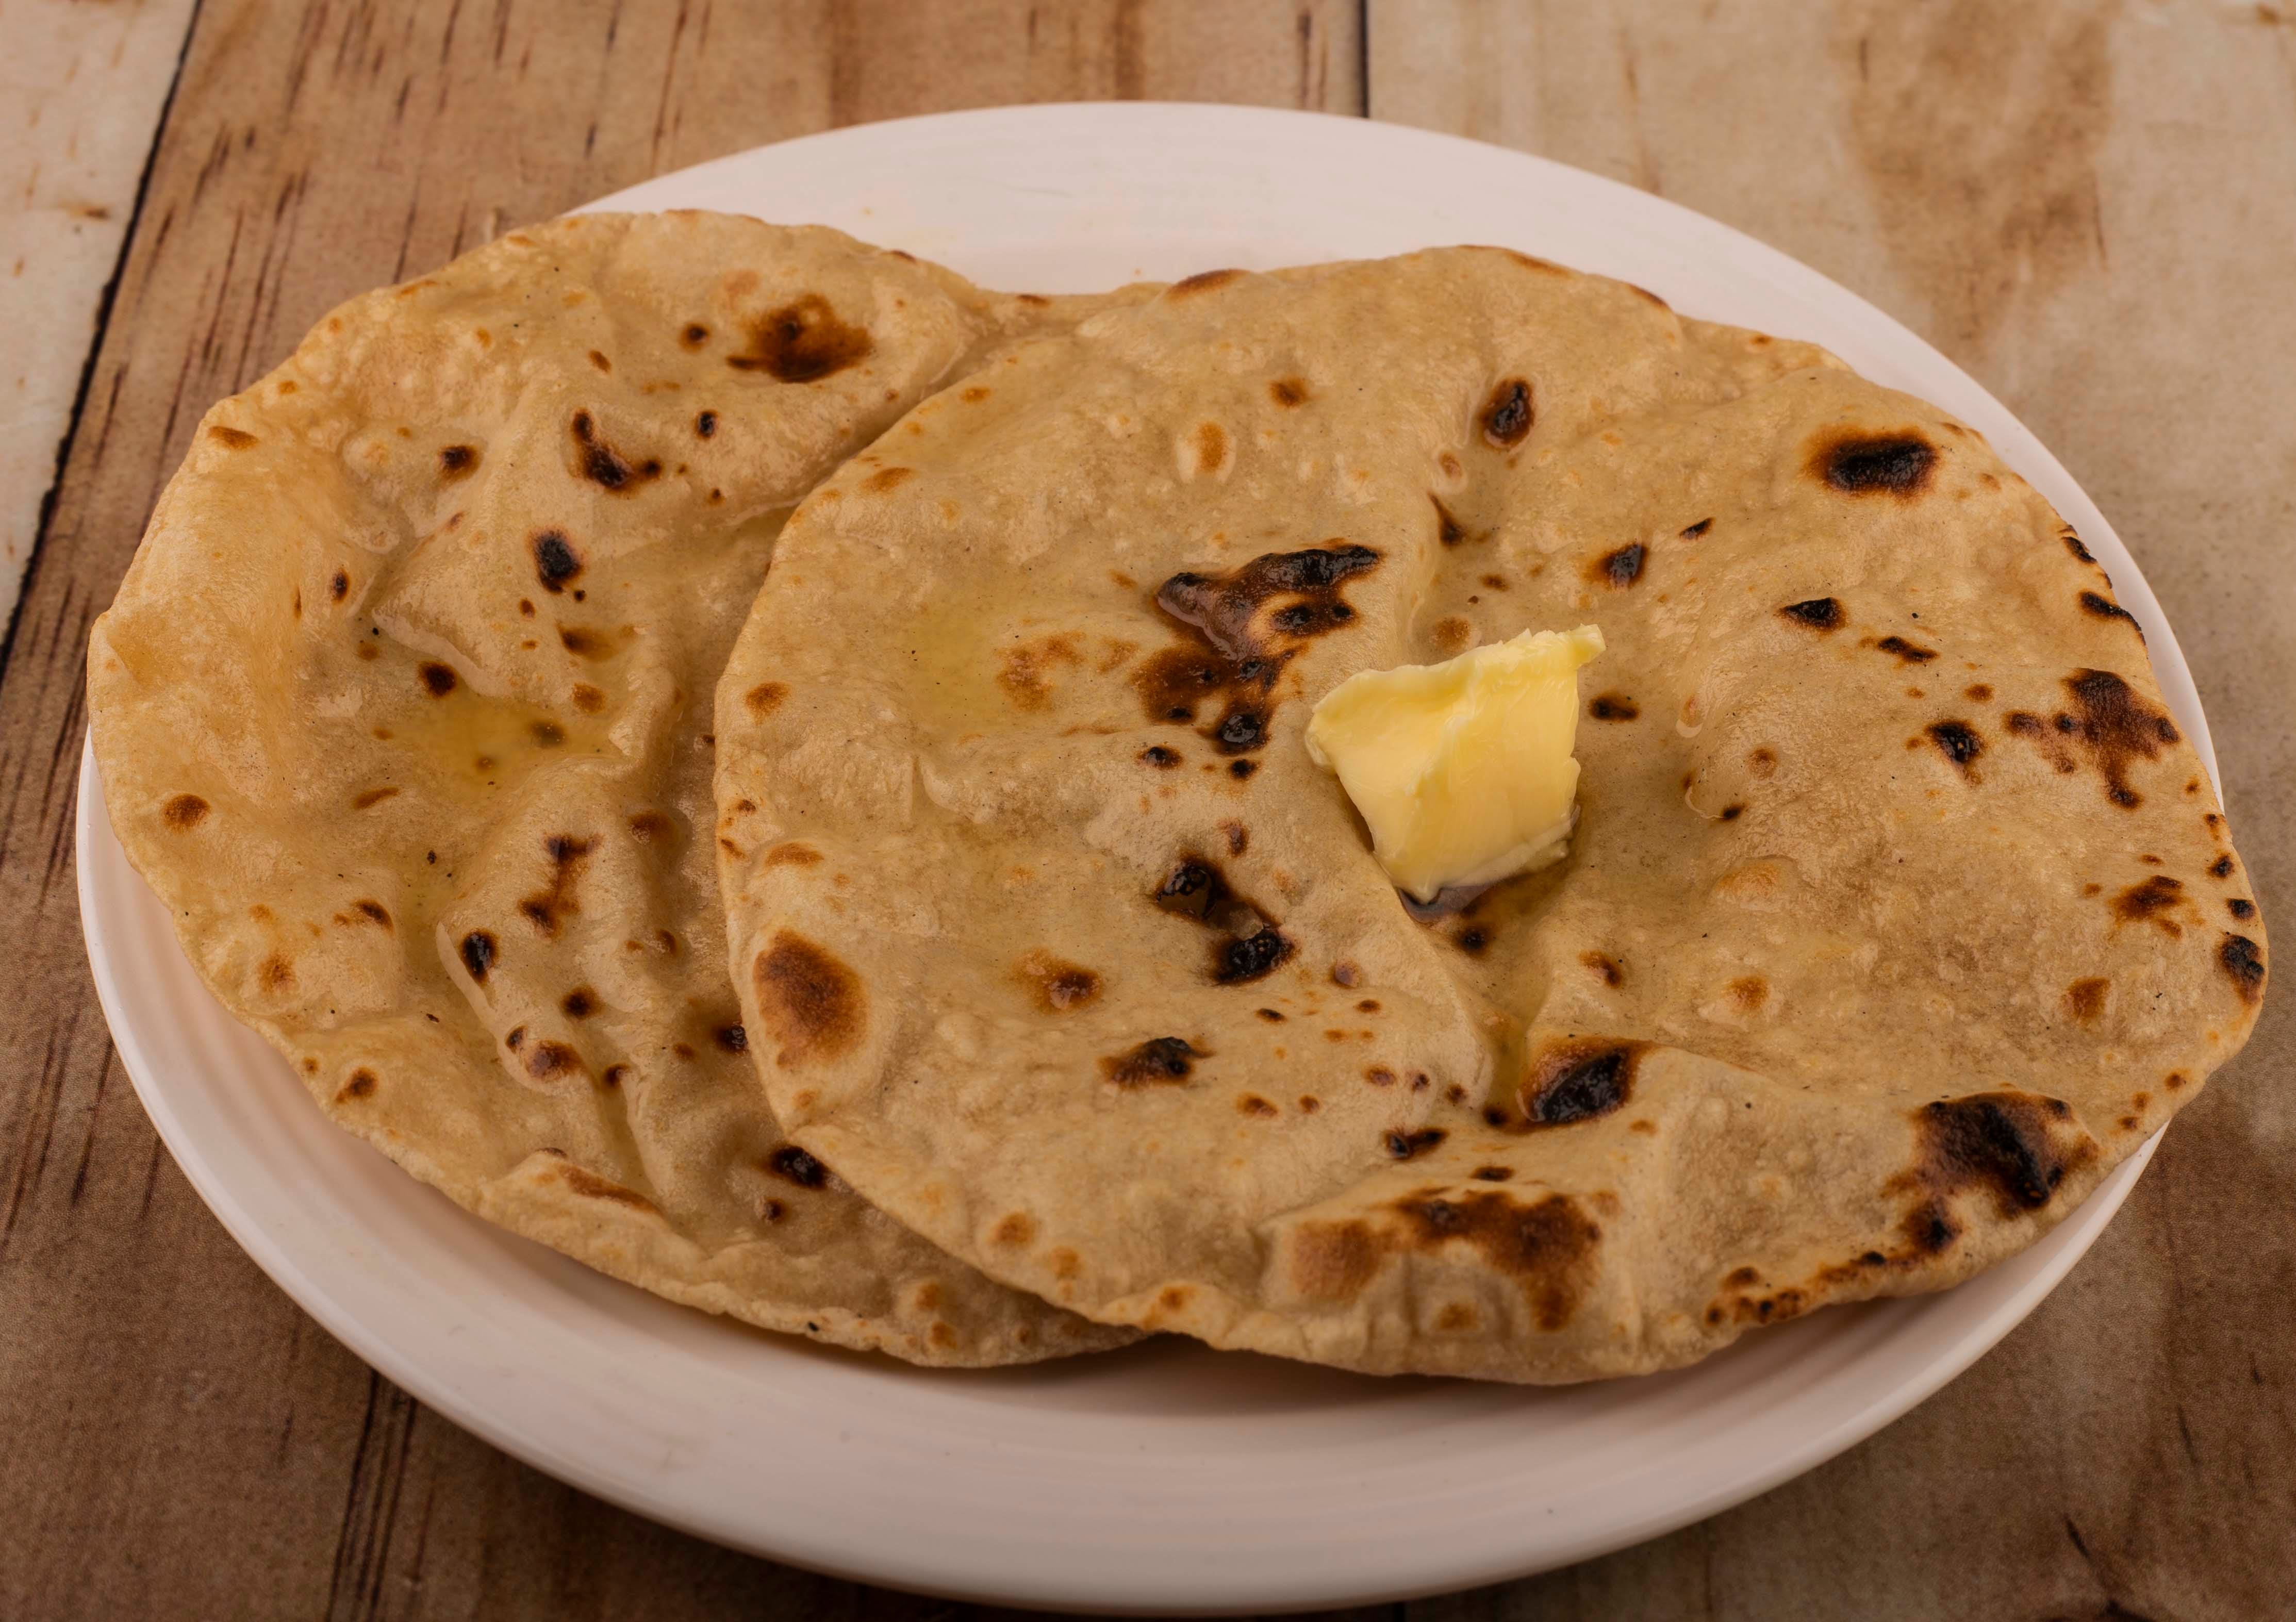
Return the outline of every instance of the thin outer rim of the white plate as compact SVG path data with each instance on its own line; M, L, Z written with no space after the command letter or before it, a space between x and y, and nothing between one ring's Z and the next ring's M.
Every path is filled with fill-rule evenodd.
M1917 347L1931 363L1945 368L1958 379L1958 386L1970 391L1972 397L1981 397L1993 411L2000 414L2004 423L2016 425L2018 446L2014 462L2027 473L2046 471L2053 482L2064 489L2078 492L2085 505L2082 533L2099 535L2105 549L2112 554L2115 563L2126 563L2126 570L2115 570L2115 588L2131 611L2142 620L2151 648L2151 666L2156 680L2167 694L2170 705L2179 712L2179 719L2188 724L2188 737L2200 754L2204 770L2211 781L2218 781L2218 763L2213 742L2209 735L2206 717L2200 705L2200 694L2190 675L2190 666L2183 657L2174 632L2167 627L2161 613L2158 600L2154 597L2142 570L2135 558L2128 556L2126 544L2112 531L2112 526L2089 501L2087 492L2071 478L2071 473L2057 462L2057 457L2034 437L2025 425L1986 391L1975 377L1954 365L1936 347L1922 340L1917 333L1906 329L1901 322L1860 299L1851 289L1832 283L1814 267L1784 255L1768 244L1761 244L1736 227L1697 214L1667 198L1655 198L1642 193L1621 181L1612 181L1587 170L1577 170L1552 159L1541 159L1536 154L1513 152L1508 147L1495 147L1488 142L1476 142L1458 136L1444 136L1435 131L1421 131L1398 124L1378 124L1371 119L1357 119L1345 115L1325 113L1295 113L1279 108L1238 108L1226 103L1104 103L1104 101L1070 101L1070 103L1033 103L1019 108L974 108L962 113L934 113L907 119L886 119L877 124L856 124L836 131L820 131L813 136L799 136L785 142L767 142L762 147L751 147L737 154L726 154L707 163L689 165L670 175L652 177L638 186L622 188L602 198L592 204L583 204L574 211L597 211L615 207L659 207L645 204L643 193L652 188L668 188L677 184L693 184L696 175L716 172L735 175L746 163L758 163L760 154L776 154L788 159L792 149L817 147L820 142L854 142L856 138L884 136L886 131L907 133L930 133L937 129L948 129L964 124L978 129L992 122L1052 122L1086 117L1107 124L1134 124L1139 129L1153 129L1162 119L1194 119L1194 122L1221 122L1235 119L1238 124L1263 124L1283 122L1286 126L1297 126L1300 119L1318 119L1327 126L1350 131L1348 140L1375 140L1375 142L1435 142L1440 147L1465 147L1479 154L1479 161L1488 161L1490 154L1499 154L1508 161L1538 165L1550 177L1568 177L1568 186L1591 186L1603 193L1626 193L1635 202L1635 209L1660 209L1660 218L1681 227L1683 221L1697 223L1699 232L1724 232L1733 239L1740 250L1750 250L1756 257L1773 262L1773 269L1782 269L1793 280L1816 280L1828 292L1828 296L1846 301L1860 322L1874 324L1885 331L1894 342ZM1433 149L1433 147L1430 147ZM1676 218L1678 216L1678 218ZM891 246L891 244L889 244ZM2007 457L2007 450L2004 450ZM2094 524L2089 522L2094 519ZM2179 703L2181 701L2181 703ZM608 1503L618 1503L627 1509L645 1514L666 1526L677 1526L696 1535L709 1537L714 1542L744 1548L751 1553L767 1555L794 1567L824 1571L831 1576L843 1576L861 1583L886 1583L912 1592L930 1592L951 1599L976 1599L994 1604L1019 1604L1019 1606L1065 1606L1084 1611L1107 1611L1107 1613L1221 1613L1231 1608L1231 1601L1208 1599L1203 1592L1187 1597L1182 1592L1171 1592L1166 1597L1132 1604L1120 1594L1111 1594L1104 1588L1095 1590L1091 1585L1079 1588L1075 1574L1068 1581L999 1581L983 1585L978 1581L934 1581L932 1571L925 1569L900 1569L889 1567L882 1560L870 1558L845 1558L838 1551L824 1551L817 1546L788 1546L776 1542L769 1532L771 1528L739 1528L719 1519L698 1519L693 1507L680 1503L673 1493L661 1491L654 1482L629 1480L625 1475L604 1473L595 1468L579 1450L551 1445L544 1438L519 1431L503 1422L501 1415L489 1413L468 1392L443 1381L422 1362L404 1353L400 1344L390 1339L381 1328L360 1319L349 1305L338 1300L335 1291L326 1280L315 1277L287 1245L280 1243L264 1222L241 1202L241 1197L216 1174L216 1169L200 1153L195 1135L186 1126L184 1117L174 1110L163 1078L163 1064L149 1050L145 1041L145 1029L129 1009L126 988L119 983L117 965L113 958L113 947L106 940L103 924L103 901L99 896L99 882L110 878L117 880L124 866L124 852L117 848L108 820L101 816L101 779L94 763L92 742L83 737L83 760L78 777L78 806L76 806L76 885L80 898L80 921L83 940L90 953L90 970L96 983L99 1004L103 1006L106 1022L113 1032L113 1043L119 1052L122 1068L126 1068L131 1084L152 1117L154 1128L168 1144L170 1156L184 1169L186 1179L193 1183L200 1199L216 1213L232 1241L250 1257L255 1264L321 1328L326 1328L338 1342L349 1346L356 1355L370 1362L374 1369L386 1374L402 1390L411 1392L443 1418L452 1420L461 1429L484 1438L487 1443L501 1447L503 1452L523 1459L526 1463L544 1470L546 1475L569 1482L583 1491L595 1493ZM110 850L106 850L110 845ZM133 885L142 885L140 875L129 871ZM172 937L168 947L174 947ZM2165 1128L2161 1128L2165 1133ZM1458 1588L1483 1585L1492 1581L1506 1581L1515 1576L1527 1576L1541 1569L1552 1569L1559 1565L1570 1565L1577 1560L1596 1558L1649 1537L1665 1535L1681 1526L1708 1519L1731 1505L1745 1503L1773 1486L1816 1468L1825 1459L1853 1447L1855 1443L1874 1436L1903 1413L1908 1413L1919 1401L1929 1399L1936 1390L1947 1385L1952 1378L1963 1374L1977 1358L1991 1351L2011 1328L2025 1321L2030 1312L2062 1282L2062 1277L2080 1261L2094 1238L2110 1222L2112 1213L2126 1199L2128 1190L2135 1185L2144 1165L2161 1142L2161 1133L2154 1133L2144 1144L2131 1153L2105 1183L2073 1213L2043 1236L2043 1245L2050 1238L2066 1236L2060 1248L2048 1254L2046 1266L2037 1268L2014 1296L1998 1303L1981 1319L1963 1326L1954 1344L1936 1355L1917 1378L1903 1381L1864 1404L1855 1413L1839 1418L1828 1429L1800 1438L1795 1445L1782 1450L1763 1468L1750 1470L1729 1482L1720 1482L1701 1493L1692 1493L1665 1505L1655 1505L1644 1516L1628 1519L1612 1528L1612 1535L1582 1539L1582 1546L1573 1546L1561 1553L1550 1553L1536 1560L1515 1560L1506 1553L1492 1551L1481 1560L1460 1560L1453 1574L1426 1581L1417 1578L1391 1590L1364 1590L1364 1588L1316 1588L1313 1574L1302 1574L1288 1594L1256 1592L1247 1599L1233 1604L1247 1604L1263 1613L1274 1611L1300 1611L1334 1604L1378 1604L1394 1599L1414 1599L1424 1594L1453 1592ZM425 1190L427 1192L427 1190ZM478 1222L478 1218L468 1218ZM2030 1252L2027 1252L2030 1254ZM2004 1264L2007 1266L2007 1264ZM1929 1296L1919 1300L1942 1300L1942 1296ZM863 1551L866 1553L866 1551Z

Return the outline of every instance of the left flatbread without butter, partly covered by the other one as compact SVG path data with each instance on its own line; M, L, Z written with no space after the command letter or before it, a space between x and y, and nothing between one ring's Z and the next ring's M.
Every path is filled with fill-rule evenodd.
M113 827L319 1105L514 1234L918 1362L1107 1330L774 1126L726 983L709 696L788 508L1091 301L712 214L354 299L193 437L90 708Z

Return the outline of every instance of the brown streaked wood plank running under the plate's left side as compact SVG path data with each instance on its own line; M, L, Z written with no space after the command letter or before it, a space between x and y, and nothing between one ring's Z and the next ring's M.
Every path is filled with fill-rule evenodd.
M0 1615L946 1615L549 1482L374 1376L232 1245L80 956L87 625L207 402L358 289L836 122L1107 94L1352 113L1355 25L1352 0L207 0L0 671Z

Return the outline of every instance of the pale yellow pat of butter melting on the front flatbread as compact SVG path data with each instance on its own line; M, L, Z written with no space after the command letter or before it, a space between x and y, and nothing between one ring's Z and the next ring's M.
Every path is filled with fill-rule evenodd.
M1559 862L1577 822L1577 669L1603 632L1522 632L1442 664L1357 671L1306 751L1339 774L1387 878L1419 901Z

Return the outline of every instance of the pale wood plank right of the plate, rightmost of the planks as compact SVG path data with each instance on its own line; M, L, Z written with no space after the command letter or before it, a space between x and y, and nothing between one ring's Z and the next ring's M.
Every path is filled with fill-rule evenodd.
M1658 191L1993 388L2144 565L2296 894L2296 11L1373 0L1371 110ZM1848 1457L1451 1617L2259 1617L2296 1594L2287 997L2023 1328Z

